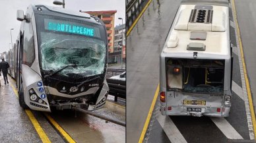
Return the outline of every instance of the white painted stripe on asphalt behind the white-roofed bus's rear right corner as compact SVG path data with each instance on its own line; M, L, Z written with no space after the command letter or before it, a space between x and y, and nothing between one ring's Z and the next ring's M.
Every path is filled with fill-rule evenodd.
M213 123L222 131L222 133L229 139L243 139L241 135L226 121L223 117L210 117Z

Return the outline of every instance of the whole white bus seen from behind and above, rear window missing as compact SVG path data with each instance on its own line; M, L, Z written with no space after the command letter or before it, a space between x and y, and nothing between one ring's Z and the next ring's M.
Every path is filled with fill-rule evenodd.
M228 1L182 1L160 55L162 115L228 117L231 84Z

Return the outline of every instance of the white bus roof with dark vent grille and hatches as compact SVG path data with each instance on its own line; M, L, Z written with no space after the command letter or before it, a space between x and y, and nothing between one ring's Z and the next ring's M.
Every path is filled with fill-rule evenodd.
M229 26L228 3L182 2L162 53L230 55Z

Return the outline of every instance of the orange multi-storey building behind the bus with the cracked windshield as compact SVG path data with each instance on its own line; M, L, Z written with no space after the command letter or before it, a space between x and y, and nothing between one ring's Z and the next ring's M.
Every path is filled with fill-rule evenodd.
M108 33L108 52L113 53L115 13L117 11L80 11L80 12L97 16L104 22L107 28L107 33Z

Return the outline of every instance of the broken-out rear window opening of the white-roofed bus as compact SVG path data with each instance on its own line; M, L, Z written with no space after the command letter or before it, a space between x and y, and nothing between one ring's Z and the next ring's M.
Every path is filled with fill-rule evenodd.
M224 61L168 60L166 78L169 90L219 93L224 90Z

